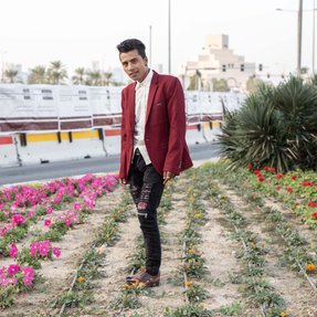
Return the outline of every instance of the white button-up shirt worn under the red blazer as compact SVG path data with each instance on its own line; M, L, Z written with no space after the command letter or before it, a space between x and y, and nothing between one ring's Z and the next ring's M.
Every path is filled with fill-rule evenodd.
M146 165L149 165L151 162L148 155L148 150L145 145L145 128L148 96L152 75L154 73L150 70L146 78L141 83L137 82L136 84L134 151L137 148L139 149Z

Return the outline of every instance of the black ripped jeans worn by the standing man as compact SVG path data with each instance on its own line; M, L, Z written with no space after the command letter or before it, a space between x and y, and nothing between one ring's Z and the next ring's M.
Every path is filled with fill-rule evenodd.
M138 149L131 162L128 183L145 239L146 270L150 275L157 275L161 264L157 208L163 192L163 179L152 165L146 165Z

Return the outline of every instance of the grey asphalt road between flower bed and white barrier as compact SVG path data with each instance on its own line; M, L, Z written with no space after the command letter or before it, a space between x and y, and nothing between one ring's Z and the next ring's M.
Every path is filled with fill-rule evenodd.
M219 156L219 146L213 142L193 145L189 147L189 150L193 161L216 158ZM117 172L118 168L119 156L29 165L23 167L7 167L0 168L0 186L36 180L44 181L85 173Z

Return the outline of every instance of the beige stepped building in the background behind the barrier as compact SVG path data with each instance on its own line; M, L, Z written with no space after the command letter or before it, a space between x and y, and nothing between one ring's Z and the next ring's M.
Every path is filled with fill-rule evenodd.
M229 49L229 35L208 35L204 47L194 61L187 62L181 70L184 88L190 77L197 74L200 78L198 88L212 91L212 80L224 78L233 91L244 92L247 80L256 72L255 63L247 63L242 55L235 55Z

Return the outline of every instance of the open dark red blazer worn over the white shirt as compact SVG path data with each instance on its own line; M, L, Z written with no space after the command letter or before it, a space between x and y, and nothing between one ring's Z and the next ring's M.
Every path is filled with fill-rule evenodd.
M120 178L128 178L134 151L135 86L121 92ZM192 161L186 144L184 96L179 80L154 72L146 114L145 144L155 169L179 175Z

